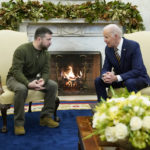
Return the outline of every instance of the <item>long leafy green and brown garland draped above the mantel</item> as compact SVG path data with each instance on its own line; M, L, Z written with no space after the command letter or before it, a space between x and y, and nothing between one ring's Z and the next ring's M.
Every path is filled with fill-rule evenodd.
M3 28L16 30L20 21L24 19L36 20L51 18L85 18L88 23L96 20L117 20L126 28L126 32L144 30L142 17L137 10L137 6L131 3L123 3L119 0L106 3L105 0L95 0L95 2L85 2L81 4L53 4L52 2L10 0L1 3L1 11L5 11L2 16ZM15 13L16 15L12 15ZM136 20L136 23L134 20ZM17 21L19 19L19 21ZM128 21L126 21L128 20ZM15 24L15 26L14 26Z

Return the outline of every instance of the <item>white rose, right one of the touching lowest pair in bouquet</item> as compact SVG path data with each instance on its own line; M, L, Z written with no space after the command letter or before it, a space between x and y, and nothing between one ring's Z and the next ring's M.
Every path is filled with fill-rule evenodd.
M125 124L123 123L118 123L116 125L116 137L117 139L125 139L128 135L128 128Z

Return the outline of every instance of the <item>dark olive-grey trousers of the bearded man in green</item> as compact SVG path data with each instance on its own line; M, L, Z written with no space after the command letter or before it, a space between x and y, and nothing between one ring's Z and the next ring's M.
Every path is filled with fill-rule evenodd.
M28 88L16 81L13 77L7 80L7 87L15 92L14 95L14 125L24 126L25 116L24 116L24 104L28 95ZM44 106L42 108L40 117L52 117L55 109L55 99L58 90L57 83L52 80L48 80L45 85Z

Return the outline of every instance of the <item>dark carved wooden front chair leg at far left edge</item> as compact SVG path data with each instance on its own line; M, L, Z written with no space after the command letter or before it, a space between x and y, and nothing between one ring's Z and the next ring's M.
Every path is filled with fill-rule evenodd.
M0 105L2 120L3 120L3 126L1 129L2 133L6 133L8 131L7 130L7 109L9 108L10 108L10 104Z

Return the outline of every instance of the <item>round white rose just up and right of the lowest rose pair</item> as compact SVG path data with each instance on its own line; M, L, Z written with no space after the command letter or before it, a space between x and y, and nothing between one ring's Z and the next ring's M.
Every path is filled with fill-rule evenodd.
M131 130L135 131L135 130L139 130L142 127L142 120L139 117L132 117L130 120L130 127Z

